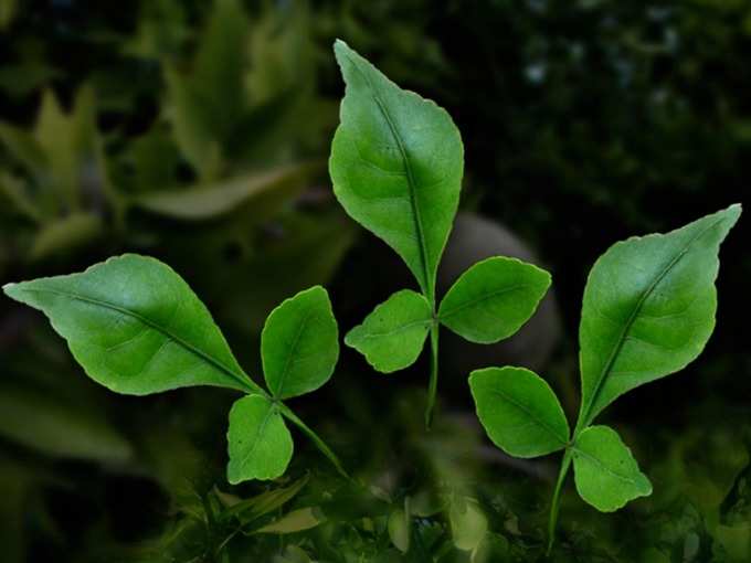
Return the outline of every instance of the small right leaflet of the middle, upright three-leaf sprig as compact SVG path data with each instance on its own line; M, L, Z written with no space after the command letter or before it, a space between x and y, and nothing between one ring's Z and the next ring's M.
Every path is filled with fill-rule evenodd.
M495 256L462 274L443 298L438 319L472 342L497 342L529 320L548 287L546 270Z

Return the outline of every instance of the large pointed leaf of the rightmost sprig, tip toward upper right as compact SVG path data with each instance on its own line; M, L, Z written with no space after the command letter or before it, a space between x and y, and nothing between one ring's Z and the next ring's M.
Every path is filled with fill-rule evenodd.
M715 328L720 243L740 205L613 245L590 273L579 329L581 427L617 396L685 368Z

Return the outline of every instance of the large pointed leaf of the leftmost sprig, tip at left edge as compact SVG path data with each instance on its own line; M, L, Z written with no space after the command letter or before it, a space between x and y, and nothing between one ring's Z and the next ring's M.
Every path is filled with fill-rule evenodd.
M126 254L81 274L8 284L3 290L43 311L88 376L118 393L187 385L260 390L205 306L155 258Z

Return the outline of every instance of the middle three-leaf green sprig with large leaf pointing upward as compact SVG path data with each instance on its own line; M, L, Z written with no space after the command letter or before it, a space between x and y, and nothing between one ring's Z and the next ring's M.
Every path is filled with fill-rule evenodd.
M390 373L417 359L430 332L430 425L440 325L473 342L508 338L535 312L550 275L518 259L488 258L465 272L436 309L436 270L462 189L459 131L444 109L401 89L342 41L335 52L347 92L329 160L334 192L349 215L401 256L420 286L420 293L389 297L345 343Z

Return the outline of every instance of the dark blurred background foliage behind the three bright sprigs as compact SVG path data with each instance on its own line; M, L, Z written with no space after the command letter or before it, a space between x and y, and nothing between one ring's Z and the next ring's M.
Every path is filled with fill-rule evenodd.
M482 362L535 365L574 413L596 256L750 193L745 0L0 0L0 282L158 256L251 373L296 290L327 284L349 329L406 273L331 195L336 36L454 116L466 178L444 286L490 252L549 267L557 302ZM747 223L705 354L603 417L654 496L605 516L570 484L553 561L751 561ZM284 479L230 487L232 393L108 393L3 299L0 559L543 561L552 461L489 446L466 386L480 352L446 348L431 433L424 363L387 378L345 350L298 405L355 482L296 436Z

